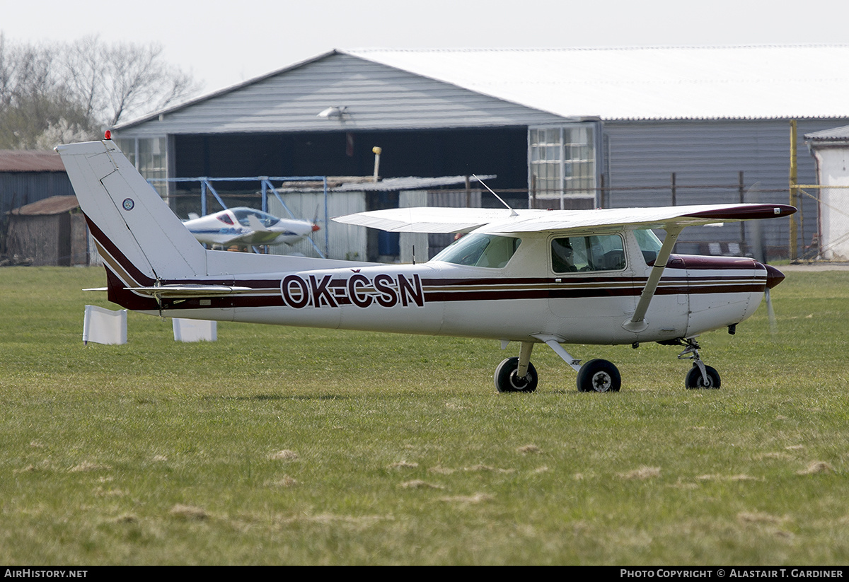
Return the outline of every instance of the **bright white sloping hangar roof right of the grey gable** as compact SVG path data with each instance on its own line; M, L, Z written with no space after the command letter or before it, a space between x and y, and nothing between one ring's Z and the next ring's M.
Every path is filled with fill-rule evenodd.
M849 116L849 45L341 52L564 117Z

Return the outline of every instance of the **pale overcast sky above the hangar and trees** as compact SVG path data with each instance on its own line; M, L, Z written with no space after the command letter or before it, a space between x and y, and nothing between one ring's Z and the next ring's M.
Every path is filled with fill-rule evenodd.
M334 48L847 44L845 0L0 0L7 42L160 44L229 87Z

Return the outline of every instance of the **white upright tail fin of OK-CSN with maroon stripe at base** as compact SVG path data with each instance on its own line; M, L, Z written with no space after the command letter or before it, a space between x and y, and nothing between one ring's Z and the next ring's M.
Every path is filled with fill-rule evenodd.
M115 143L71 143L56 151L104 262L124 283L206 274L206 250Z

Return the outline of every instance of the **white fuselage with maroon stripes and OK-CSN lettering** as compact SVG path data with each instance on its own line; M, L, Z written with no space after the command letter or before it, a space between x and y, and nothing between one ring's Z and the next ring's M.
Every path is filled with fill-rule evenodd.
M651 267L633 235L615 271L556 273L549 238L523 238L502 268L441 261L358 265L218 281L254 291L166 302L164 315L303 327L534 341L632 344L697 335L743 321L760 304L764 266L751 259L673 256L638 333L633 315ZM206 301L206 305L203 302ZM159 313L159 311L151 312Z

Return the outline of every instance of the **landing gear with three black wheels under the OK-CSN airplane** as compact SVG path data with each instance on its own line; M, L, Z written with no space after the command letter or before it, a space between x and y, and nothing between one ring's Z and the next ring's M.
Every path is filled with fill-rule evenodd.
M621 388L621 375L616 366L610 361L595 359L581 365L569 355L555 337L535 336L554 350L563 361L577 372L577 388L579 392L618 392ZM684 378L684 386L688 389L718 389L721 385L719 372L713 367L706 366L699 356L699 344L695 339L675 339L659 342L665 345L683 345L684 350L678 354L679 360L692 360L693 367ZM506 347L507 342L503 342ZM634 344L636 347L638 344ZM532 342L522 342L519 357L507 358L495 369L495 388L498 392L533 392L537 389L537 369L531 364Z

